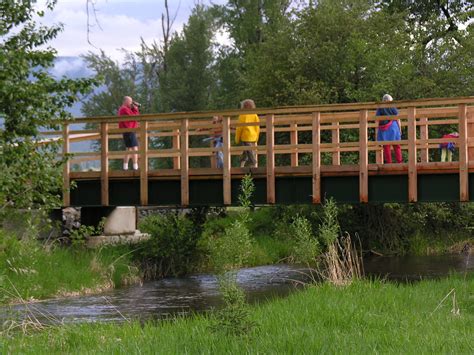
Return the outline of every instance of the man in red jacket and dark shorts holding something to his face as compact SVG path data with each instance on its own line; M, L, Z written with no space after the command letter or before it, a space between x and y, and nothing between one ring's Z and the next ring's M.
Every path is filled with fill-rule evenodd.
M130 96L123 98L122 106L118 110L119 116L139 115L139 104L134 102ZM138 128L137 121L119 121L119 128ZM138 151L138 140L135 132L124 132L123 141L128 151ZM133 170L138 170L138 154L127 154L123 160L123 170L128 170L128 162L132 159Z

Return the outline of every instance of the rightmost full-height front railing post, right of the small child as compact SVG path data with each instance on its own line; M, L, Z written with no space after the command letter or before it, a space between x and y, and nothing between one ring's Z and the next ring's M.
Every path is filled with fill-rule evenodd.
M459 105L459 199L469 201L469 160L467 149L467 105Z

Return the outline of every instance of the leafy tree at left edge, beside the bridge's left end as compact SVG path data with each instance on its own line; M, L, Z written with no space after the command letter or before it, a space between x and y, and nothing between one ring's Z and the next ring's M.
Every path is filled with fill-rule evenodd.
M47 3L47 10L56 1ZM60 205L62 163L59 143L39 145L41 129L59 128L67 107L94 84L91 79L55 80L48 69L56 52L44 46L61 26L38 25L34 1L0 3L0 210Z

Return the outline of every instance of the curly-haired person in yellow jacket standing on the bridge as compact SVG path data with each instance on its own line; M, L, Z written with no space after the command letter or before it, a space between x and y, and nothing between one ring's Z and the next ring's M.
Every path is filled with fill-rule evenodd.
M250 99L246 99L240 104L241 109L248 110L254 109L255 102ZM258 115L255 113L239 115L239 123L259 123L260 120ZM235 132L235 143L241 144L245 147L256 147L258 137L260 135L260 126L238 126ZM256 150L244 150L240 157L240 167L244 167L245 164L249 163L250 167L257 167L257 151Z

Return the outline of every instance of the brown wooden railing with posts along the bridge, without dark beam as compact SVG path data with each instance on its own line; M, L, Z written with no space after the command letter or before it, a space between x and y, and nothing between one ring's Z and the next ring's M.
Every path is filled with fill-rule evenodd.
M459 198L468 201L469 168L474 168L473 104L474 97L461 97L246 110L260 117L261 137L255 147L233 144L235 129L249 125L238 123L241 110L146 114L133 118L139 121L136 129L119 129L118 122L123 117L78 118L64 123L62 132L45 132L45 135L62 139L63 154L74 151L64 167L66 206L70 204L71 180L100 179L101 202L108 205L109 180L120 178L139 179L141 205L148 205L150 179L179 179L182 205L189 205L190 179L222 179L222 202L227 205L231 203L232 178L248 172L266 179L270 204L275 203L277 176L312 176L312 201L319 203L322 176L358 176L359 199L367 202L369 175L407 174L408 201L415 202L418 174L442 172L459 174ZM379 107L399 109L401 141L375 140L377 121L383 119L375 116ZM221 124L212 123L216 115L223 118ZM203 138L220 130L222 148L203 142ZM130 131L136 132L139 139L138 171L124 171L122 164L113 163L130 153L120 143L122 133ZM458 131L459 138L439 138L440 131L444 134ZM77 142L88 142L92 148L85 151L82 146L75 147ZM434 161L433 150L444 142L456 144L458 161ZM400 144L404 162L383 164L385 144ZM223 153L222 169L216 167L213 159L218 150ZM259 167L238 166L236 156L244 150L256 151ZM96 161L96 168L81 170L80 164L85 161Z

